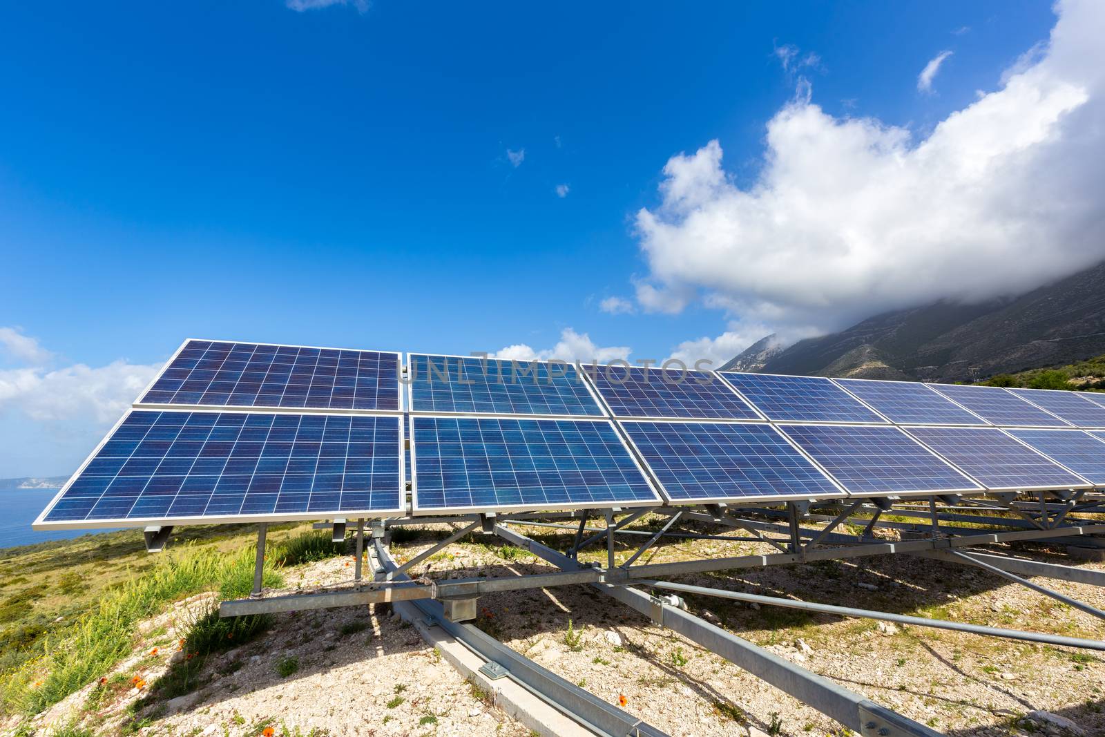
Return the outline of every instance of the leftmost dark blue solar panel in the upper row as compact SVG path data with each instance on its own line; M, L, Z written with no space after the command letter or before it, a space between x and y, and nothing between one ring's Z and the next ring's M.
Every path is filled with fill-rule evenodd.
M140 404L399 409L399 354L188 340Z

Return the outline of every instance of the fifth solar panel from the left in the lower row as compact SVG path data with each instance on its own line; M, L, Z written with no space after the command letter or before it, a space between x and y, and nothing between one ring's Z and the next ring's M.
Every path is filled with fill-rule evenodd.
M997 428L909 428L907 432L990 489L1086 485Z

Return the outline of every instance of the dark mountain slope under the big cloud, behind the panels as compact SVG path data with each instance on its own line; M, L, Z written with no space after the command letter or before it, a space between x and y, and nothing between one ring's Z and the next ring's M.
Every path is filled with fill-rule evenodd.
M726 364L746 371L809 376L972 381L1105 354L1105 263L1019 297L979 304L936 302L852 327L759 347ZM758 358L762 356L762 358Z

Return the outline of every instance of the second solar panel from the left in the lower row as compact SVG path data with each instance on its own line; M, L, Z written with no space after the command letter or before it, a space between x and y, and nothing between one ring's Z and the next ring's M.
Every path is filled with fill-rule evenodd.
M660 499L609 420L411 417L414 512Z

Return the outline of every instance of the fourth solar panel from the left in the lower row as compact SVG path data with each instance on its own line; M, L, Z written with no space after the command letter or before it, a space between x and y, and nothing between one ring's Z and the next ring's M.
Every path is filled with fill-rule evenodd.
M981 491L897 428L793 424L779 429L855 494Z

